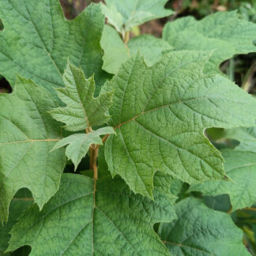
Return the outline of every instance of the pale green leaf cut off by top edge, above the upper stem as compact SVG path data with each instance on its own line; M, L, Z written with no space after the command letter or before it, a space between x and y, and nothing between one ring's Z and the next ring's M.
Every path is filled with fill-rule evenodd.
M168 0L106 0L105 2L106 6L102 5L103 13L108 23L121 34L136 25L173 13L171 9L164 9Z

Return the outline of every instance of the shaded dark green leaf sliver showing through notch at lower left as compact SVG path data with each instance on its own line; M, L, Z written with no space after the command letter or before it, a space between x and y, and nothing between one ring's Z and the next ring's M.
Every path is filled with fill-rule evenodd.
M27 190L19 190L9 205L9 220L6 224L0 224L0 254L8 247L10 239L9 231L17 223L18 217L33 203L33 198Z

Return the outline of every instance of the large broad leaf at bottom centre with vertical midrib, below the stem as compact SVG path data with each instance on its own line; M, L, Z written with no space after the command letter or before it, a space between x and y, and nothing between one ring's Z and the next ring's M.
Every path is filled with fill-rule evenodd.
M24 244L33 255L169 255L152 229L175 218L158 191L155 201L134 195L121 179L96 182L64 174L55 197L41 212L36 205L11 231L8 250ZM35 239L36 237L36 239Z

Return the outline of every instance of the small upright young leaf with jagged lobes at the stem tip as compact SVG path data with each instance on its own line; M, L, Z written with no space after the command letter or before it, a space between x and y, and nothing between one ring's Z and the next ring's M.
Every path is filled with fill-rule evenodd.
M110 116L106 113L112 104L112 92L94 98L93 77L86 79L83 70L70 62L63 74L63 81L66 88L57 88L57 93L66 107L55 108L50 113L56 120L66 123L66 130L78 131L107 122Z

